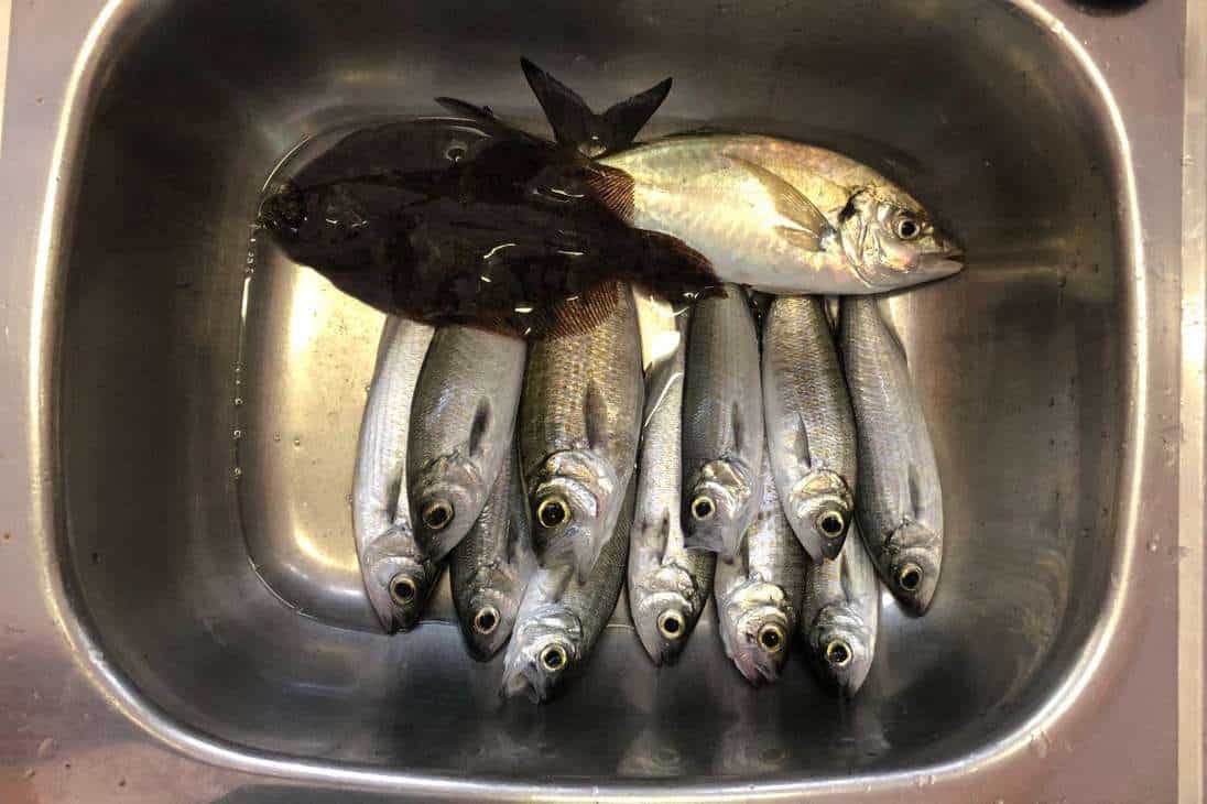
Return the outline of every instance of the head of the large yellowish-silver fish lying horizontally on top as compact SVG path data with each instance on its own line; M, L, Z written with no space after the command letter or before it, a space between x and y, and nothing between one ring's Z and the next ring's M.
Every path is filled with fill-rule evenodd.
M964 267L960 246L899 188L858 190L838 220L842 250L874 289L919 285Z

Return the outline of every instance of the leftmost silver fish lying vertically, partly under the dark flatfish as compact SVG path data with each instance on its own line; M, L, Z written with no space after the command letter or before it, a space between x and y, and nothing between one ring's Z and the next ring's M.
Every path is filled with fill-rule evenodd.
M386 316L356 449L352 531L365 590L386 631L414 628L441 572L415 542L406 477L410 402L432 332Z

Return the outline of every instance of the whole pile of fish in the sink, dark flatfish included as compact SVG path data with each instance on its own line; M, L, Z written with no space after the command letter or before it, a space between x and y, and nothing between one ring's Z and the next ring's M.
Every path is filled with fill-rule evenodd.
M926 420L873 293L957 272L957 249L823 148L634 145L669 80L595 115L523 64L555 142L442 99L465 118L352 134L261 209L389 314L354 480L383 628L415 627L447 564L471 654L507 646L501 689L544 700L628 583L657 664L711 596L750 682L799 640L853 695L881 584L923 614L943 558Z

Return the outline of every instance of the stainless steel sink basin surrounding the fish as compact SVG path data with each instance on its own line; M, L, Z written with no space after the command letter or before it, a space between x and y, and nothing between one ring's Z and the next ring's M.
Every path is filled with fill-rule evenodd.
M884 792L1036 740L1042 758L1034 724L1081 705L1112 646L1135 538L1137 210L1084 51L1032 2L523 5L129 2L99 24L65 117L41 368L82 660L209 762L424 796ZM542 130L520 56L596 106L672 75L647 136L840 148L966 246L962 275L888 304L947 546L925 618L886 596L853 703L799 657L750 689L711 613L657 670L623 600L541 709L498 700L447 590L416 631L377 633L349 495L381 315L250 223L299 142L438 113L435 95Z

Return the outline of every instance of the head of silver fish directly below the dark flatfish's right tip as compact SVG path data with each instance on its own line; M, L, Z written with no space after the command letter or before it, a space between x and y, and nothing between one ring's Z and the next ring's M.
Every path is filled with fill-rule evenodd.
M739 461L709 461L683 495L684 544L733 558L750 524L757 477Z

